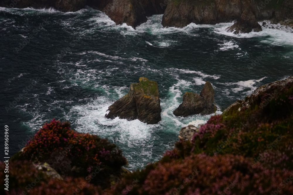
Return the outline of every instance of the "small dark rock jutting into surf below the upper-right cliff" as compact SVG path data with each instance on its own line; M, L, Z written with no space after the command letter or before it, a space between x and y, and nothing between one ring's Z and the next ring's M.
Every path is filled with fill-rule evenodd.
M233 32L233 34L249 33L249 32L260 32L262 31L261 26L255 19L252 13L243 12L240 21L234 25L226 28L227 32Z

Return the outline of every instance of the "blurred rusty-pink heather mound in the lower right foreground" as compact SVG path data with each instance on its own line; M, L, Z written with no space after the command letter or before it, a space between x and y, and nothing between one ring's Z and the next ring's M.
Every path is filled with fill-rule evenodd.
M147 174L143 170L140 173L144 177L133 173L105 194L122 194L127 186L127 195L252 195L271 194L278 188L282 194L293 192L293 172L264 168L260 163L253 165L243 156L192 154L182 161L159 162ZM131 186L135 179L139 182ZM284 183L286 179L290 181Z

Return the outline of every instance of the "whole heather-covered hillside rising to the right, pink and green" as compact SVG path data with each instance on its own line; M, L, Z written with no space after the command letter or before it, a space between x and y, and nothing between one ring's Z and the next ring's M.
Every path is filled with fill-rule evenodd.
M108 193L292 194L292 99L292 82L260 87Z

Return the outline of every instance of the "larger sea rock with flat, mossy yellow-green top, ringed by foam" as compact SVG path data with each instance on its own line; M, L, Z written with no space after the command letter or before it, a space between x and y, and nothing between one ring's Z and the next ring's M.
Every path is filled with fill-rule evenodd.
M139 83L132 83L128 94L115 101L105 115L106 118L127 120L138 119L147 124L156 124L161 120L161 106L158 84L140 77Z

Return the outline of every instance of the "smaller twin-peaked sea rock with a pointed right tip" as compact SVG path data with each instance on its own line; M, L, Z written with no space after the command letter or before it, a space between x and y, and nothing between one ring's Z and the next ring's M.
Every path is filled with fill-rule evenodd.
M183 102L173 112L175 116L187 117L194 114L211 114L216 111L214 105L214 89L210 82L206 82L200 94L186 92Z

